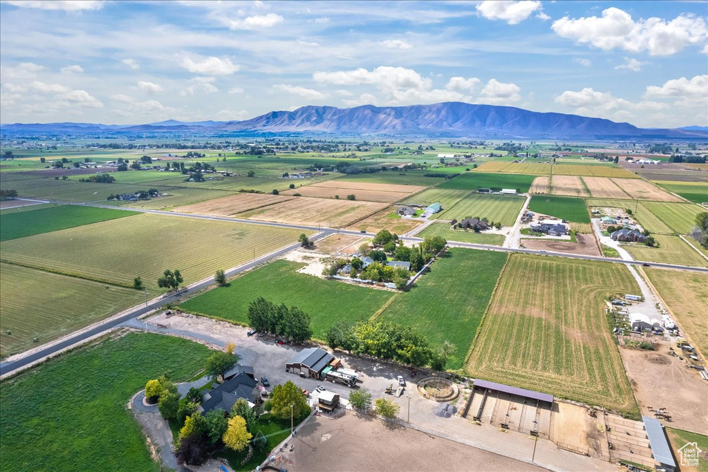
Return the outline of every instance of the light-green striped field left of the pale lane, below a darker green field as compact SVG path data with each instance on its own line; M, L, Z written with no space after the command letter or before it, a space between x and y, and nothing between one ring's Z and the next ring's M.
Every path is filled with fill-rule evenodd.
M455 205L452 205L452 207L443 209L435 217L450 220L461 220L467 217L486 217L489 218L489 221L501 222L502 226L513 226L524 202L524 197L482 195L472 192L455 203Z

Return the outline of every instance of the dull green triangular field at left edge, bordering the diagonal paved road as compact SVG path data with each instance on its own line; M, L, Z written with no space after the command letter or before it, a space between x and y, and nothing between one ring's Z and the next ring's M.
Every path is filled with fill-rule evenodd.
M35 337L48 343L144 298L135 289L0 264L0 356L37 345Z

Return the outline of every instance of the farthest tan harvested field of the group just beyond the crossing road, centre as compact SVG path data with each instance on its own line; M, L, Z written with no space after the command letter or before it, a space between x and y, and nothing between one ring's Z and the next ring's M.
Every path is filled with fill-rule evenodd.
M329 180L326 182L298 187L282 192L282 195L299 193L304 197L346 199L348 195L355 195L356 200L365 202L398 202L404 200L413 192L423 190L425 187L417 185L388 185L384 183L344 182Z

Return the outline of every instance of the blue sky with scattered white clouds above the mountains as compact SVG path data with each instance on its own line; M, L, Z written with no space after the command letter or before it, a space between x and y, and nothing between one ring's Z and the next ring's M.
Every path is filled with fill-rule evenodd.
M2 1L0 122L459 100L708 125L705 1Z

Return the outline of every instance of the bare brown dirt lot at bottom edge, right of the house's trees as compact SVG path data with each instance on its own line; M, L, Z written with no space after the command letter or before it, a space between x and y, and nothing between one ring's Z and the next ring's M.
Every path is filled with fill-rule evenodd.
M542 471L491 452L347 412L313 418L278 464L290 471ZM336 464L336 466L333 466Z

